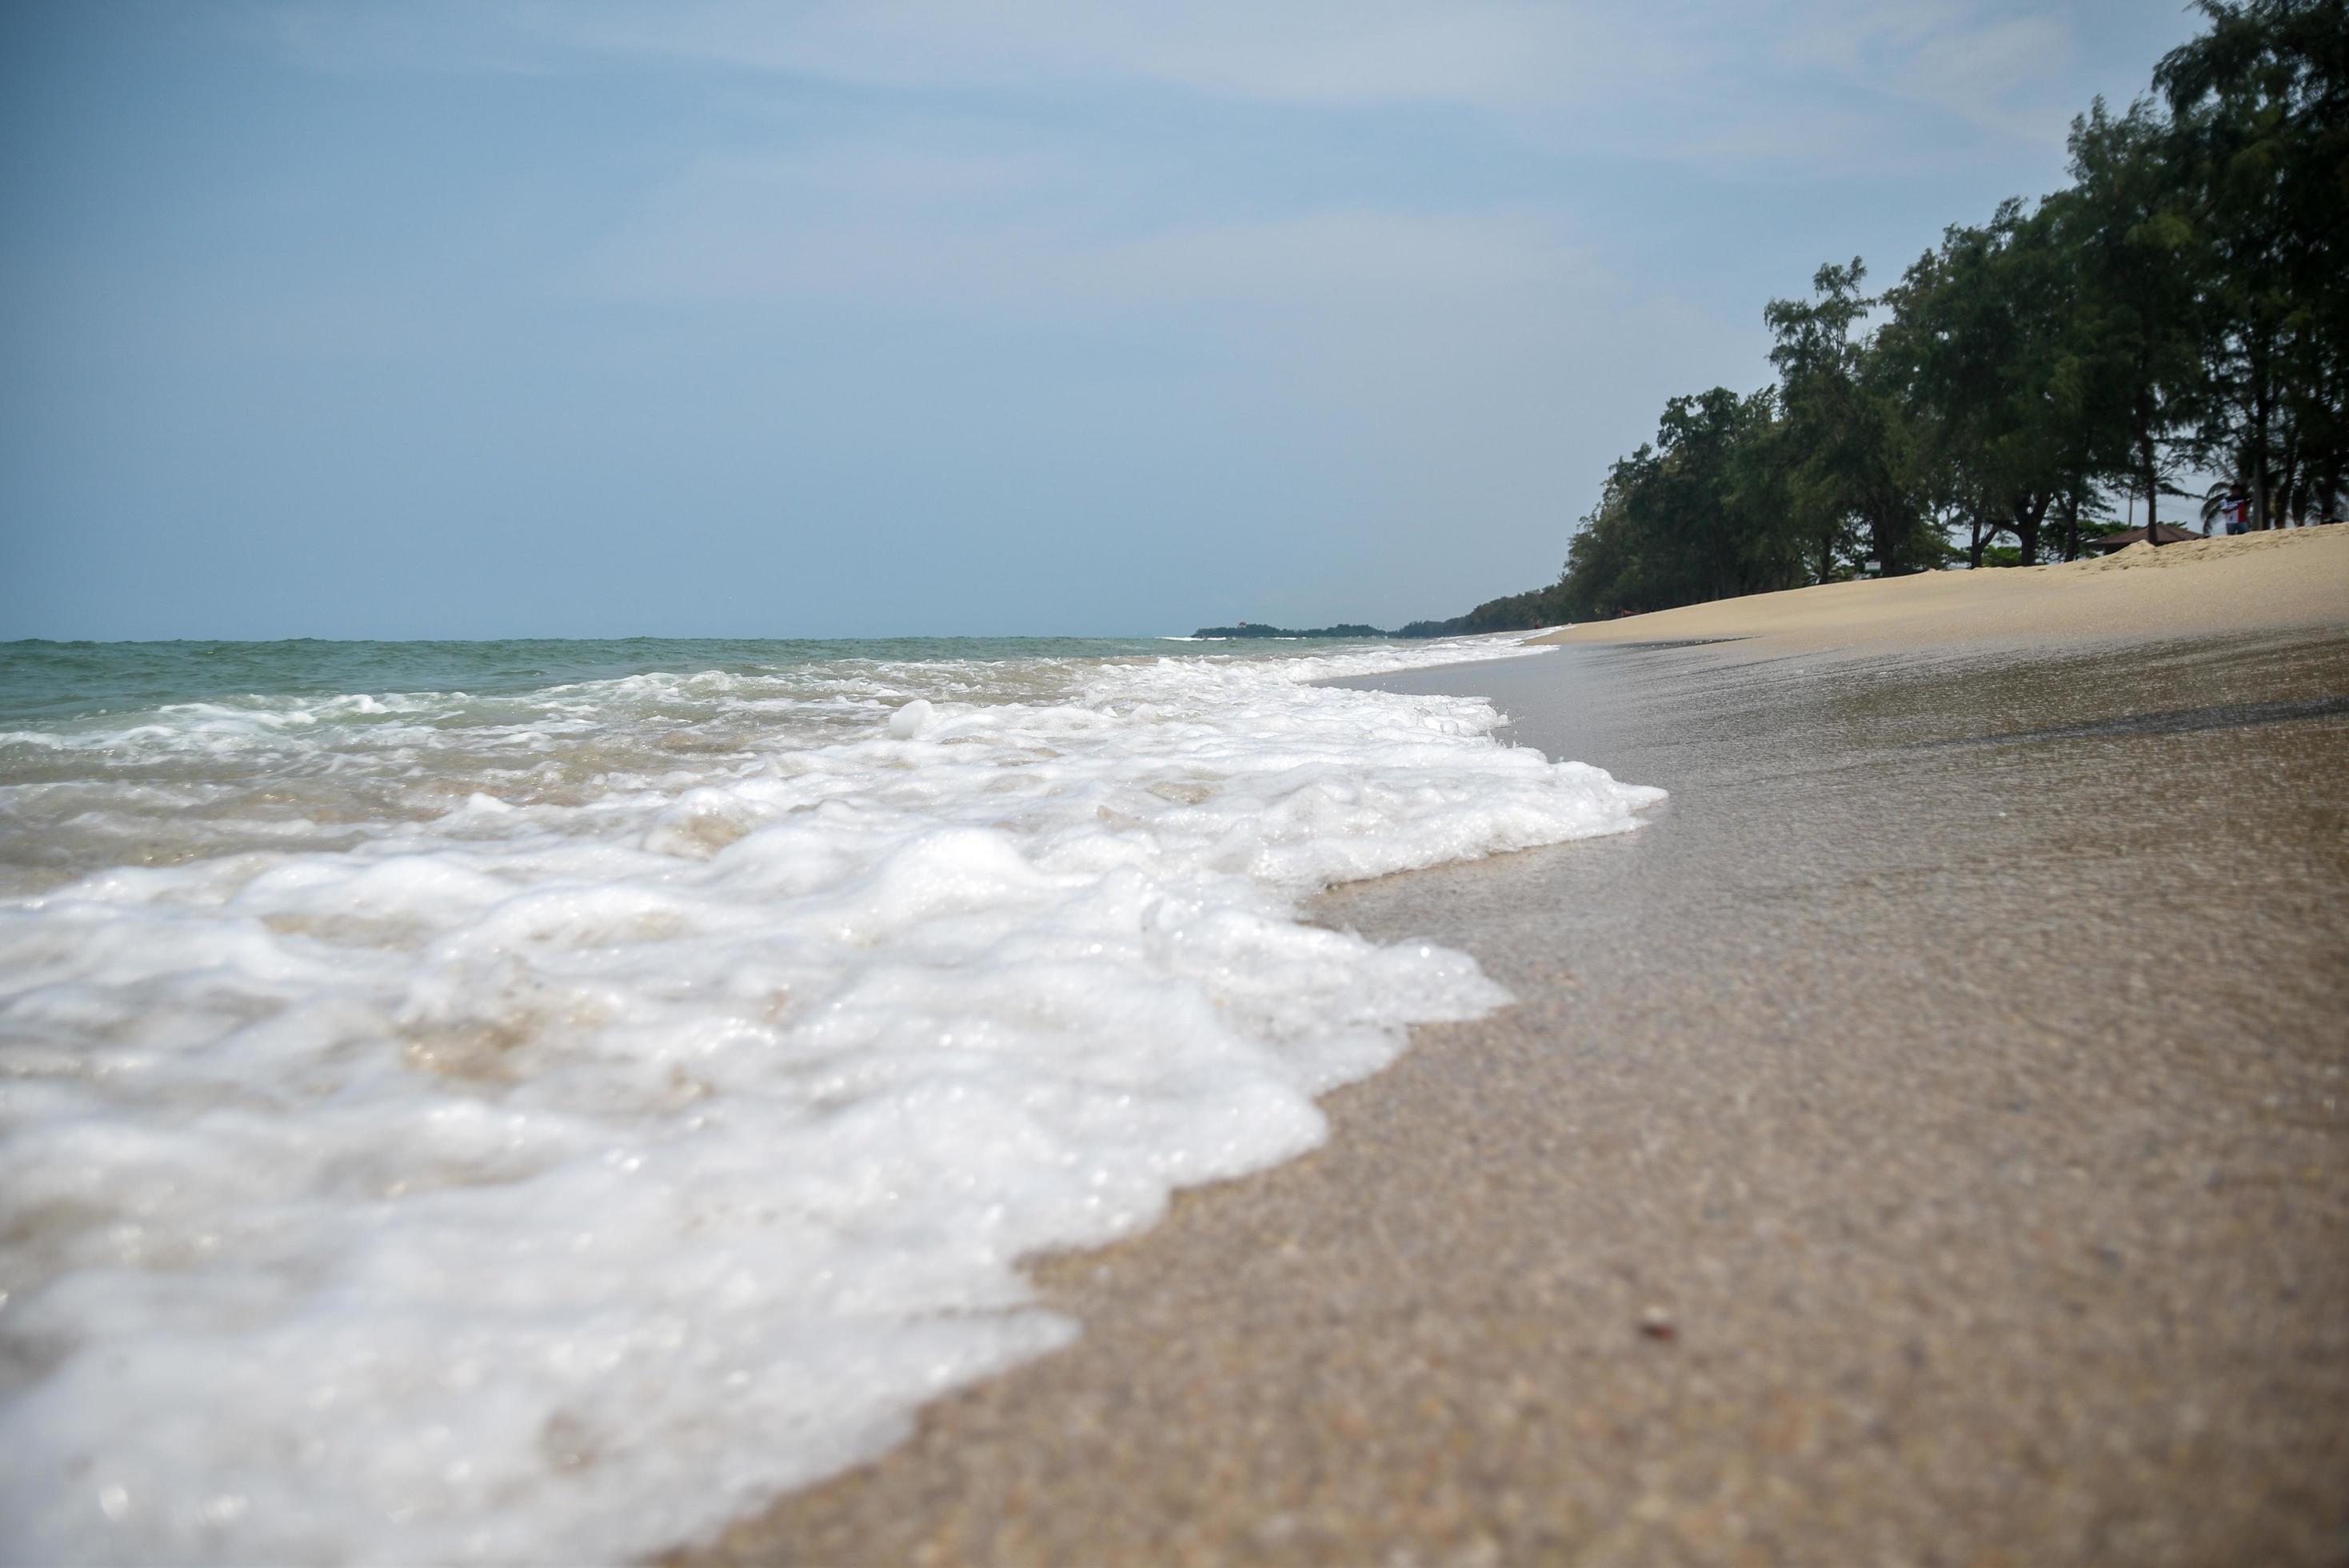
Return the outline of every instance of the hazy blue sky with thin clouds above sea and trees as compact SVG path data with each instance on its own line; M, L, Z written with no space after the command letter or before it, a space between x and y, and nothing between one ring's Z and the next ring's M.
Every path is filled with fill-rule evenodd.
M1153 635L1557 576L2168 0L0 0L0 637Z

